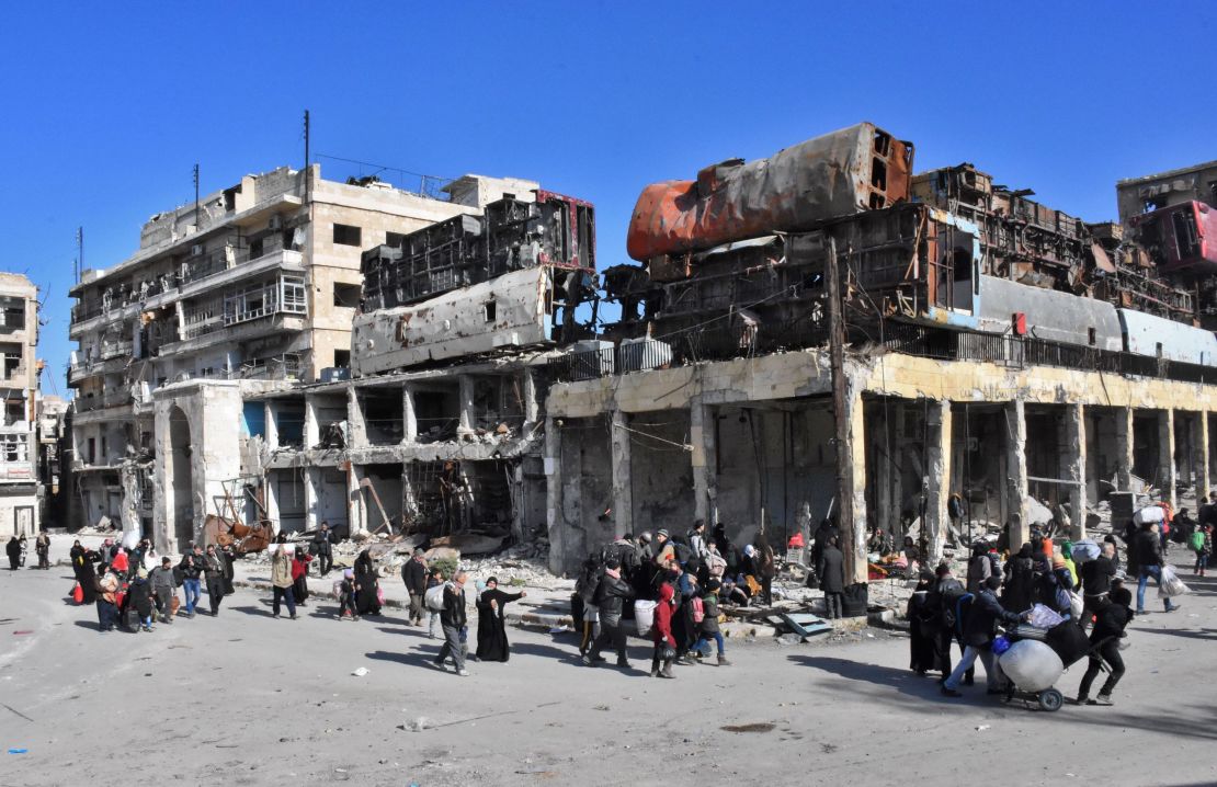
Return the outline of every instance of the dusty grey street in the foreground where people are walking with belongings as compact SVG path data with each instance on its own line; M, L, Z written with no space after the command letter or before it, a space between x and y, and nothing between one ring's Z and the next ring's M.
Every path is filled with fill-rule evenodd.
M1217 580L1183 575L1182 611L1133 624L1116 707L1048 714L941 697L885 631L736 645L733 667L662 681L641 641L623 673L512 629L511 662L462 679L426 665L438 643L398 611L338 622L321 598L274 620L269 594L239 590L218 618L99 634L67 568L0 570L0 742L27 749L0 783L1211 785Z

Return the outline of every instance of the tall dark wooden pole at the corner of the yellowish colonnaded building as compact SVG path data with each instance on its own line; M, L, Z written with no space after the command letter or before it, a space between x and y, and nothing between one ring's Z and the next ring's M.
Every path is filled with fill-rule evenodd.
M846 583L853 584L856 575L856 549L853 522L853 451L849 444L851 420L846 395L845 375L845 315L841 300L841 274L837 265L836 238L829 236L829 255L824 264L829 307L829 367L832 372L832 423L836 443L836 498L841 551L845 553Z

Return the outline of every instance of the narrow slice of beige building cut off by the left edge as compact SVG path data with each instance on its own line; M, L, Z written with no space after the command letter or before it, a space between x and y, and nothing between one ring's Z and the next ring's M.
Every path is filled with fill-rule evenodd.
M19 274L0 272L0 535L39 528L38 287Z

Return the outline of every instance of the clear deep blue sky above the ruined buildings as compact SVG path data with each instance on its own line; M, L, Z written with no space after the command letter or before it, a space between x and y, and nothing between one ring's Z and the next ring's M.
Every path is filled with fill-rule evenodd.
M1215 5L846 5L9 4L0 269L43 287L44 390L75 227L113 265L196 162L204 192L299 165L305 107L319 153L593 201L601 266L645 184L864 119L1088 220L1120 178L1217 158Z

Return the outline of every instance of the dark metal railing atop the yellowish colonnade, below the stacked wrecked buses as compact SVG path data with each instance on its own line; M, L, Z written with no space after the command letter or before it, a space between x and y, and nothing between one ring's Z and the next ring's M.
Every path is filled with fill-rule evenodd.
M770 335L773 333L774 331L770 331ZM819 330L798 332L797 338L790 333L786 337L790 341L784 342L781 347L774 347L772 343L742 345L738 336L730 335L728 331L685 333L667 342L623 342L616 347L570 353L551 359L548 367L556 382L574 382L688 366L703 361L733 360L783 350L826 347L828 343L826 335ZM1217 384L1217 366L1049 342L1032 337L949 331L888 322L882 336L875 333L874 330L857 331L851 333L848 341L852 349L856 350L870 345L919 358L997 364L1014 369L1055 366L1078 371Z

